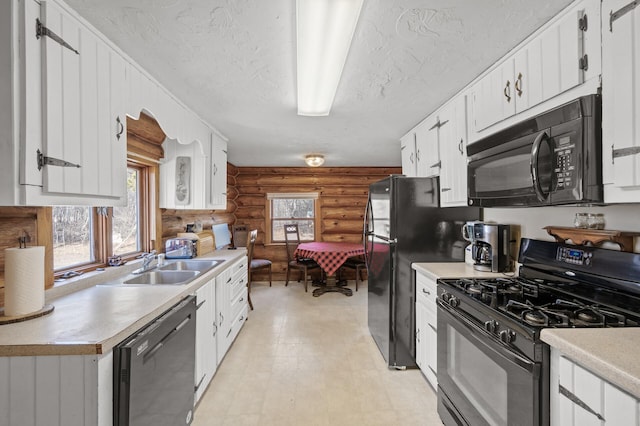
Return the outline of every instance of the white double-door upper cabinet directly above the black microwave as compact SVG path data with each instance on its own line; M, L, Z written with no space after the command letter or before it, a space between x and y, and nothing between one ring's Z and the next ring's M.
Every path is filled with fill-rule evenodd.
M599 19L599 0L573 3L474 83L473 139L546 101L554 99L544 106L549 109L581 96L583 91L572 89L588 80L595 79L584 90L595 93L601 69Z

